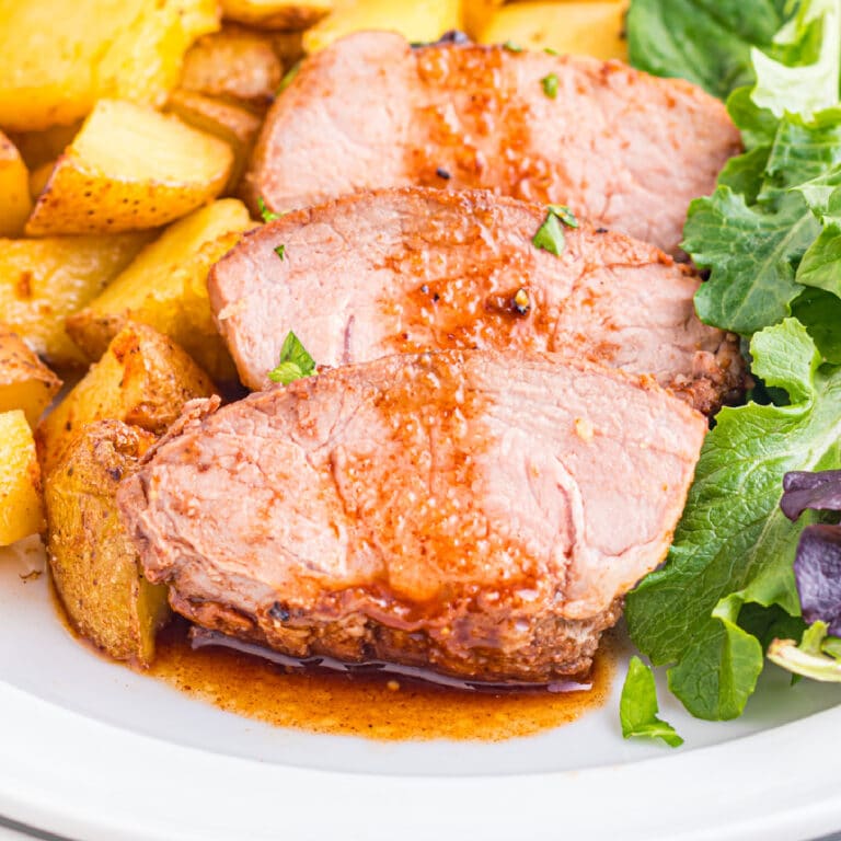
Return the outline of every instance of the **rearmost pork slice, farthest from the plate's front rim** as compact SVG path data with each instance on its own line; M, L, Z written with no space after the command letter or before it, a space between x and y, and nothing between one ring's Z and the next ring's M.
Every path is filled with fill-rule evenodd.
M246 183L278 211L372 187L484 187L569 205L677 253L689 203L739 150L724 105L689 82L367 32L304 61L269 111Z

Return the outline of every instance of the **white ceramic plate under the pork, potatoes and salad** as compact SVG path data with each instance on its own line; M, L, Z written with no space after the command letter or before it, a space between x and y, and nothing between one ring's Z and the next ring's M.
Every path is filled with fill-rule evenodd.
M497 744L275 729L78 645L35 544L0 553L0 816L76 841L810 839L841 829L841 689L768 669L735 723L672 751L624 741L617 701ZM586 833L586 834L584 834Z

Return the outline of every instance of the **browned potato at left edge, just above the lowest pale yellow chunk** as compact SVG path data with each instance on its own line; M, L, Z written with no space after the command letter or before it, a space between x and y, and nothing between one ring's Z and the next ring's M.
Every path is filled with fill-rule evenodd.
M34 427L60 388L61 380L26 343L0 324L0 412L20 408Z

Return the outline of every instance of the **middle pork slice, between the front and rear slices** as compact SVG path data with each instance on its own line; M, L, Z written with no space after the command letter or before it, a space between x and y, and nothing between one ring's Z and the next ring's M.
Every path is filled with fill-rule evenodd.
M532 244L545 215L486 191L396 188L246 235L208 280L240 378L264 388L291 330L327 366L451 347L550 350L653 376L705 413L741 393L736 337L695 316L698 275L585 222L565 229L555 256Z

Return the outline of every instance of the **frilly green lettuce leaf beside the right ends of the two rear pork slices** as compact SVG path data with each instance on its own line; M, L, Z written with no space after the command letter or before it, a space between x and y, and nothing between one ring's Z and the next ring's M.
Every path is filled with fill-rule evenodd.
M690 205L683 249L710 269L695 296L702 321L752 335L791 315L806 286L841 293L828 279L841 229L820 206L834 200L838 164L841 110L787 115L770 147L731 160L715 193Z

